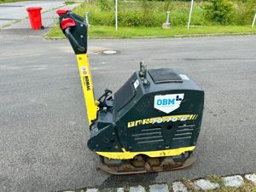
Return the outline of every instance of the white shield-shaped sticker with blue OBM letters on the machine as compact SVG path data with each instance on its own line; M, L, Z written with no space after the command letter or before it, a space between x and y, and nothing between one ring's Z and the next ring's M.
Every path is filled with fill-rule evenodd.
M171 113L180 107L183 98L183 93L154 96L154 108L165 113Z

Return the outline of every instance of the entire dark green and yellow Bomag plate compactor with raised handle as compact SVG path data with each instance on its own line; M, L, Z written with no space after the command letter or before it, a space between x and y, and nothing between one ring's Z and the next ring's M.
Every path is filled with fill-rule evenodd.
M100 168L111 174L181 169L195 162L204 91L180 69L140 70L114 94L95 99L83 18L59 9L62 32L79 63L90 125L88 148L99 155Z

